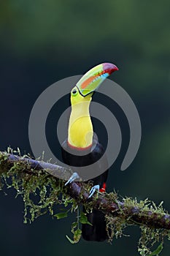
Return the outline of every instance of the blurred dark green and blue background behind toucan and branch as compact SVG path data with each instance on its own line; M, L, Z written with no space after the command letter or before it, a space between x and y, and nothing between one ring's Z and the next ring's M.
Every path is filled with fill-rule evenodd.
M166 0L1 1L1 151L11 146L31 154L29 115L48 86L112 62L119 71L111 79L128 92L139 111L142 142L134 162L121 172L129 130L125 116L113 104L123 148L109 173L108 191L115 188L122 196L148 197L155 203L163 200L170 211L169 10ZM53 148L54 121L55 112L47 124ZM72 237L74 214L58 221L46 215L24 225L22 199L15 198L12 189L7 194L0 193L1 255L138 255L139 227L129 227L125 235L130 236L114 239L112 245L82 240L72 245L65 235ZM165 241L163 255L169 256L169 250Z

